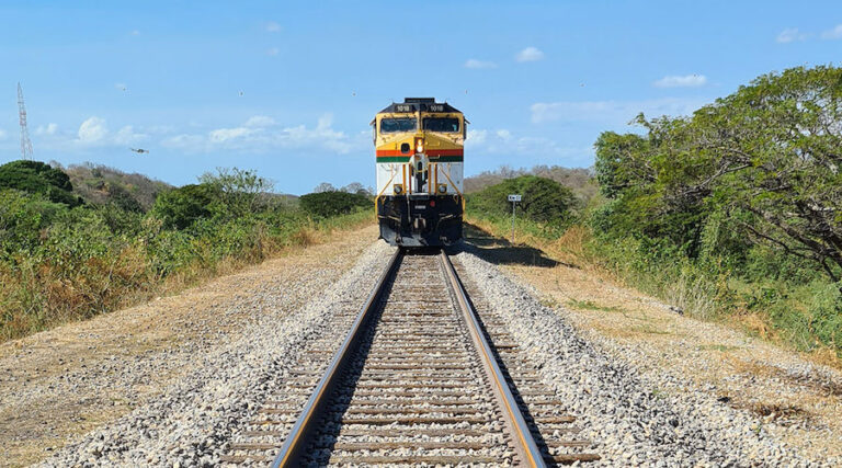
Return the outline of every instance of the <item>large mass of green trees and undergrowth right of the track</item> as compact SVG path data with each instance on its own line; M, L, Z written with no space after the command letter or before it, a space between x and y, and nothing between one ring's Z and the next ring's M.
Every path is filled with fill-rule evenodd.
M593 253L652 294L698 284L800 349L842 349L840 122L842 68L798 67L690 117L641 114L644 135L603 133Z

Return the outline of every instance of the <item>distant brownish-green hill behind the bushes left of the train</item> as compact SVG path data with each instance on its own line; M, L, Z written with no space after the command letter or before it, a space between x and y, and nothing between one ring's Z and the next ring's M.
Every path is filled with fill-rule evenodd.
M172 189L166 182L102 164L86 162L62 168L52 161L50 165L64 170L70 176L73 192L87 203L95 205L113 202L127 209L146 212L155 203L158 193Z

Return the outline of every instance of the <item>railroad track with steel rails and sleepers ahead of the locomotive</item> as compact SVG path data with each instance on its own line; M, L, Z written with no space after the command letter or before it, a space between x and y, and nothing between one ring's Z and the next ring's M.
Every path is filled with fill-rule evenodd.
M362 310L338 315L228 464L546 466L596 460L500 317L474 309L442 251L395 253ZM485 320L485 321L483 321ZM329 357L330 356L330 357ZM305 396L308 396L305 401Z

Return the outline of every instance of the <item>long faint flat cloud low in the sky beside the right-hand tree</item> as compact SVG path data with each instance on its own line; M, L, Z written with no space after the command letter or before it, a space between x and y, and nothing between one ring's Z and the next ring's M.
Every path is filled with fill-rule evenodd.
M532 104L532 122L598 122L623 125L644 113L649 116L690 115L706 103L701 99L664 98L649 101L562 101Z

